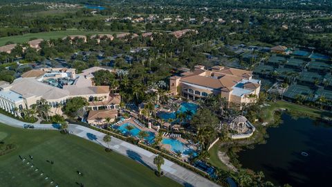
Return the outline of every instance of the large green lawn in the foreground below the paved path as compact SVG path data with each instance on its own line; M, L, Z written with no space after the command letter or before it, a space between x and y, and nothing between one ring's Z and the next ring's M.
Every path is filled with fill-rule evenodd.
M44 187L55 186L55 183L78 186L76 182L84 186L181 186L167 177L156 177L153 170L136 161L116 152L107 153L100 145L77 136L21 130L3 124L0 124L0 131L8 134L3 140L5 143L17 146L13 152L0 157L1 187ZM33 161L28 159L29 154ZM19 155L27 160L21 161ZM54 164L47 161L54 161ZM77 170L83 176L78 175Z

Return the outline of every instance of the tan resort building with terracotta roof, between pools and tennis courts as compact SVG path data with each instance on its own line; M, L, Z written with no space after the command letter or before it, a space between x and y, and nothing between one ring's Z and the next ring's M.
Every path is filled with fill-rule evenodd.
M254 103L259 96L261 81L252 78L252 71L224 66L195 66L194 71L169 78L171 95L191 100L221 95L232 103Z

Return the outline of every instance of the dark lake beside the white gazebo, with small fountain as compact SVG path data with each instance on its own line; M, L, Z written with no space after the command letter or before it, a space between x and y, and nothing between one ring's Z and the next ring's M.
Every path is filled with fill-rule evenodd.
M331 186L332 127L288 114L282 114L282 120L279 127L268 128L266 144L239 152L243 168L261 170L279 185Z

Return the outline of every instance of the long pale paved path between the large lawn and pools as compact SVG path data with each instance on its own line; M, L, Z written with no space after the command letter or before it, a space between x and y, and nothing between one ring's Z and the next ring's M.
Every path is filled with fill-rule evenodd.
M0 123L20 128L23 128L24 124L30 124L17 121L16 119L10 118L9 116L5 116L3 114L0 114ZM34 125L35 129L37 130L58 130L59 128L59 126L57 125L50 124L32 125ZM107 147L107 143L104 143L102 141L103 137L105 136L105 134L102 132L98 132L88 127L74 124L69 124L68 130L76 136L80 136L83 139L87 139L89 141ZM142 163L149 168L156 169L156 166L154 166L154 157L156 157L156 154L139 148L138 146L131 143L116 139L115 137L112 137L111 143L109 143L109 145L112 150L135 161L138 161L139 163ZM198 175L191 170L187 170L186 168L183 168L182 166L179 166L178 164L167 159L165 159L165 164L161 168L165 172L165 175L167 177L178 181L178 183L183 184L184 186L218 186L214 182L206 179L205 177L202 177L201 175Z

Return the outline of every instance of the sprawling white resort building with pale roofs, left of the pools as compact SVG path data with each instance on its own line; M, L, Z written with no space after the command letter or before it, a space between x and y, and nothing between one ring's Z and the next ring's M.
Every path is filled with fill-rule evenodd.
M109 86L94 86L93 82L77 86L80 77L80 74L75 74L75 69L28 71L12 84L0 86L0 107L6 112L22 116L22 109L30 109L31 105L43 99L50 105L50 114L54 115L62 114L59 107L65 105L68 99L82 97L89 101L88 108L91 109L118 108L120 96L110 96Z

